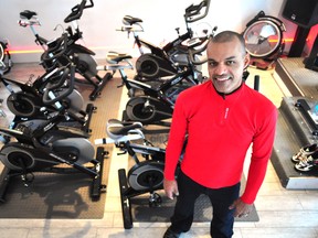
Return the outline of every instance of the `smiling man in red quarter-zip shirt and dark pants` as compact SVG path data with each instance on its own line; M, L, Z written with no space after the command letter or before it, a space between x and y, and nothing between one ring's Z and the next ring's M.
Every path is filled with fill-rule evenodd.
M177 204L165 238L190 229L200 194L206 194L213 207L211 236L232 237L234 217L251 212L273 149L277 109L242 79L250 63L242 36L221 32L210 40L206 54L210 80L181 93L173 110L163 187L169 198L177 196ZM174 173L186 134L188 144L177 183ZM246 188L240 197L251 144Z

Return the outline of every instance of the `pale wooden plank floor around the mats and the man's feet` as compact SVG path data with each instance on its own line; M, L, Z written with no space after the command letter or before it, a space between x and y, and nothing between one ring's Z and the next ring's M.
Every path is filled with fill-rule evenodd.
M30 72L34 65L14 65L17 74ZM259 91L266 95L277 107L283 96L290 96L284 84L273 77L273 71L251 68L247 84L253 86L253 76L261 76ZM29 74L29 73L28 73ZM115 75L119 77L119 75ZM119 78L114 78L118 80ZM113 84L115 86L116 84ZM107 87L107 86L106 86ZM1 86L1 96L3 86ZM1 98L0 96L0 98ZM107 97L103 95L100 97ZM3 98L3 97L2 97ZM4 98L3 98L4 99ZM98 98L96 99L98 101ZM127 101L123 91L119 115ZM4 107L4 105L3 105ZM98 111L96 113L98 117ZM7 120L7 121L6 121ZM1 118L1 123L8 123ZM130 230L123 229L121 208L118 190L117 170L128 166L128 159L117 158L113 153L108 174L106 207L103 219L0 219L1 238L120 238L120 237L162 237L169 226L166 223L134 224ZM248 162L245 165L245 171ZM1 165L0 165L1 169ZM318 238L318 191L287 191L282 187L273 165L268 164L265 182L259 191L255 206L259 216L257 223L235 223L233 238ZM209 223L193 224L191 231L182 237L210 237Z

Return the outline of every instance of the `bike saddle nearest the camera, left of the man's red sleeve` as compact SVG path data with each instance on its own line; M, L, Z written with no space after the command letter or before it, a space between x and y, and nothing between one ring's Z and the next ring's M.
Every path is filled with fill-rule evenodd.
M130 130L142 128L141 122L124 122L117 119L109 119L106 126L106 132L112 139L126 136Z

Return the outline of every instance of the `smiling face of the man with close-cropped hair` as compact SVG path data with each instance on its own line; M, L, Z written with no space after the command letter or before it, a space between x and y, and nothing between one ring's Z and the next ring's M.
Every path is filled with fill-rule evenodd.
M230 94L242 84L244 68L250 56L243 52L240 41L210 42L208 50L208 71L210 79L219 93Z

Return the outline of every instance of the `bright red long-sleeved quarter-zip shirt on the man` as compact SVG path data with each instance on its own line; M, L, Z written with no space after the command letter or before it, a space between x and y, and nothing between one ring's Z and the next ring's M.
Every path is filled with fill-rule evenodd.
M252 204L265 177L276 121L273 102L244 83L230 95L220 95L211 80L182 91L173 109L165 177L174 180L188 134L182 172L205 187L232 186L241 181L252 143L246 187L241 197Z

